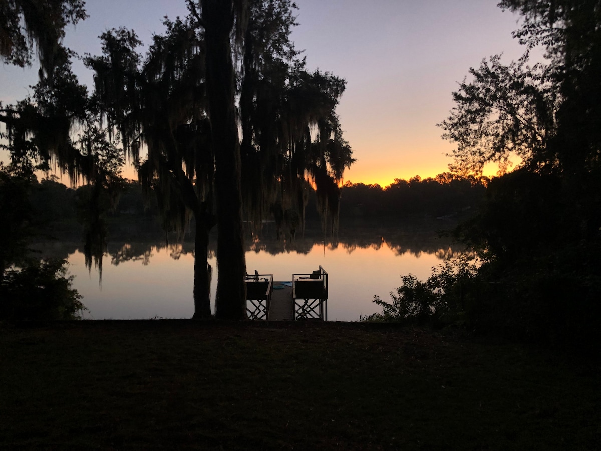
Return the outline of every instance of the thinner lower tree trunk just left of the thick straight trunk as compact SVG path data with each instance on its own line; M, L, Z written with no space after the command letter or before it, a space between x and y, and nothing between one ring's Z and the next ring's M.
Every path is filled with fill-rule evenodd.
M194 239L194 319L211 318L211 272L207 262L209 227L206 221L196 218Z

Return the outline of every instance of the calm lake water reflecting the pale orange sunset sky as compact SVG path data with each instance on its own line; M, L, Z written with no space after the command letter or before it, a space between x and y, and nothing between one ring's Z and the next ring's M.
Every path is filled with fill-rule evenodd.
M337 241L321 238L248 240L248 272L273 274L274 280L290 280L294 272L311 272L322 265L329 274L329 321L357 321L360 314L380 311L373 296L389 299L409 272L426 279L432 266L456 255L435 233L399 232L394 229L353 230ZM194 244L120 242L109 244L99 272L88 271L77 244L54 244L46 253L66 257L73 286L84 296L87 319L191 318ZM216 267L214 251L209 263ZM213 277L212 293L216 287Z

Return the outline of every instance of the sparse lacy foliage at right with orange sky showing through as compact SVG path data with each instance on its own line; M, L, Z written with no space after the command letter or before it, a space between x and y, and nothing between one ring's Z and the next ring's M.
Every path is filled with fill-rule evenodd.
M496 162L505 173L512 157L530 168L555 163L545 153L556 133L558 93L546 82L545 71L541 64L528 67L523 61L502 64L501 55L469 70L471 81L460 83L453 93L456 106L439 124L442 138L457 143L452 172L481 174L484 164Z

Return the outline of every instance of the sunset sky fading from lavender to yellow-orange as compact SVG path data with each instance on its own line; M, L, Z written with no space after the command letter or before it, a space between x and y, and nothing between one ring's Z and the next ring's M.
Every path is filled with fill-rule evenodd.
M453 108L457 83L483 58L508 63L524 49L511 31L518 16L496 0L295 0L299 25L292 40L307 67L346 79L337 112L356 163L345 181L388 186L394 179L434 177L448 170L453 144L437 123ZM184 0L87 0L90 17L67 28L64 43L79 54L100 54L106 29L133 28L150 43L162 17L186 15ZM147 47L144 48L147 49ZM73 65L92 88L91 72ZM0 102L26 97L37 67L0 63ZM495 173L493 168L489 173ZM124 174L135 178L133 172Z

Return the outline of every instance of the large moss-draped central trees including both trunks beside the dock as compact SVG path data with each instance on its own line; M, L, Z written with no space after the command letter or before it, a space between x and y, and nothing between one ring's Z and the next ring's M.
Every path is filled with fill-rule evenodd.
M159 195L165 225L183 230L189 215L195 218L195 317L210 315L206 249L215 222L221 268L216 316L244 315L242 174L246 174L244 191L252 192L245 196L246 207L252 215L260 216L265 206L270 206L268 200L279 195L278 186L292 184L291 180L299 177L305 181L304 168L310 164L323 168L323 179L334 183L326 164L341 179L345 165L352 162L350 147L341 140L334 115L344 82L319 72L310 75L304 63L290 61L296 55L288 41L290 2L255 0L250 4L250 15L245 18L242 2L188 2L189 17L165 20L166 34L154 37L143 64L136 53L139 41L126 29L105 33L105 55L87 60L96 73L95 96L103 105L109 127L120 130L124 146L134 159L141 144L148 148L148 159L140 165L139 176ZM260 49L256 41L261 42ZM253 58L248 57L249 52ZM246 55L240 67L233 66L234 54ZM267 90L275 72L280 83ZM242 161L234 104L236 78L242 86ZM305 91L299 91L302 89ZM295 92L299 97L313 96L311 102L321 102L322 109L294 109L290 100L269 106L270 96L287 99ZM270 108L275 113L264 115ZM289 111L296 117L290 117ZM329 146L323 152L315 152L321 141L312 142L309 136L309 127L318 118L329 119L322 125L324 138L320 145ZM273 128L272 119L275 131L268 129ZM302 133L302 149L307 154L296 172L291 171L290 162L293 145L298 144L288 138L294 120L302 124L294 133ZM255 185L249 183L253 178ZM324 185L322 180L316 182L318 187Z

